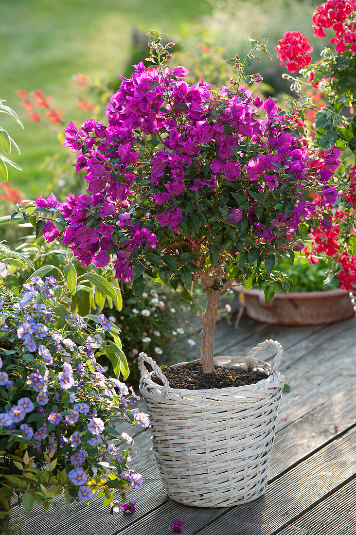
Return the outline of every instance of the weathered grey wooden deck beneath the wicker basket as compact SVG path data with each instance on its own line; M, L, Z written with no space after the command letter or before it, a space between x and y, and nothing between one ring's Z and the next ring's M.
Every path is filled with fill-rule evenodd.
M149 429L135 434L131 427L139 452L132 464L144 477L130 495L133 515L111 516L97 498L88 506L59 500L46 514L35 507L24 516L22 535L165 535L177 519L184 535L355 535L356 320L278 327L243 317L238 330L218 325L216 354L244 354L266 338L283 345L280 370L290 391L279 409L264 496L226 509L179 505L165 494Z

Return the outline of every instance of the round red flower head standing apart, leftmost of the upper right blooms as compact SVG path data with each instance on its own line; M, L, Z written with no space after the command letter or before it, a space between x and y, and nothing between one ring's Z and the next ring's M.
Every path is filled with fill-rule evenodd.
M277 41L277 58L281 60L281 65L287 62L286 67L289 72L296 72L312 61L309 52L313 51L313 47L309 44L308 37L304 36L305 34L294 30L294 32L286 32L283 39Z

